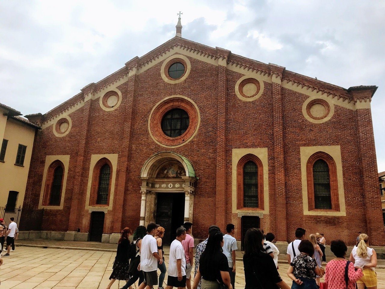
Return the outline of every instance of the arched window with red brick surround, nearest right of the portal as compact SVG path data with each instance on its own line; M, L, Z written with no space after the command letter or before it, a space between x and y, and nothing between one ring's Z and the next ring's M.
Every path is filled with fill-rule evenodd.
M263 165L254 155L246 155L237 165L238 209L263 210Z

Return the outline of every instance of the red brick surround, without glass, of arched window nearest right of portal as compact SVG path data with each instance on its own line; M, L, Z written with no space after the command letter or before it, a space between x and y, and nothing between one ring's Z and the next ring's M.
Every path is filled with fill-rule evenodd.
M253 161L258 168L258 207L243 207L243 168L248 161ZM237 164L237 209L238 210L264 210L263 197L263 164L262 161L253 154L243 156Z

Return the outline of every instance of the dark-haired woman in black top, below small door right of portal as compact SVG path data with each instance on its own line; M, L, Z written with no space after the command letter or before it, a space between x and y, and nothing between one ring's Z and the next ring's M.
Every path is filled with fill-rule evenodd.
M244 236L245 289L290 289L278 273L273 258L263 252L263 234L256 228Z

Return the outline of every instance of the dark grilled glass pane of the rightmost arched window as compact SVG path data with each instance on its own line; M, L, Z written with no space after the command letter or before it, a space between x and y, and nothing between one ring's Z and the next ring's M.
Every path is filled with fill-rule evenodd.
M314 208L331 209L329 166L324 160L313 165Z

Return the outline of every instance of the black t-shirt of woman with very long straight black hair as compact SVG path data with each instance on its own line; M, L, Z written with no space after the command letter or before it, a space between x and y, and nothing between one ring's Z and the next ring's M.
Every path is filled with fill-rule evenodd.
M228 272L228 270L227 257L222 252L216 252L214 256L211 256L209 264L199 262L199 272L201 272L202 278L207 281L223 282L220 271Z

